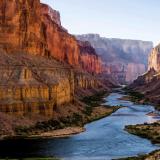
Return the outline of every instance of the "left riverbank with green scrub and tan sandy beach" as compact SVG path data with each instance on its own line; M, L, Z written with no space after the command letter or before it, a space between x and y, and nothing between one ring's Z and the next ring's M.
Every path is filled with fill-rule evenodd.
M85 131L84 125L109 116L117 111L119 106L101 105L104 103L106 92L99 92L95 95L84 97L79 102L74 102L74 105L80 106L79 110L69 111L68 108L62 108L61 111L65 116L56 117L46 121L40 121L35 125L15 127L15 133L11 135L2 134L0 139L12 138L57 138L67 137L73 134L78 134ZM78 107L75 107L78 108ZM60 115L62 115L60 113Z

